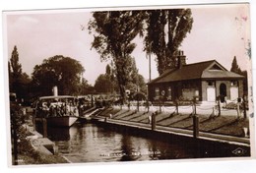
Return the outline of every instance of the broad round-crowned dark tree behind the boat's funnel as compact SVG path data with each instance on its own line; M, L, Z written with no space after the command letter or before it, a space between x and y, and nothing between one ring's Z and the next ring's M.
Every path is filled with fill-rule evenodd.
M79 61L63 55L44 59L32 72L32 83L37 95L52 94L57 86L59 94L79 94L81 78L85 69Z

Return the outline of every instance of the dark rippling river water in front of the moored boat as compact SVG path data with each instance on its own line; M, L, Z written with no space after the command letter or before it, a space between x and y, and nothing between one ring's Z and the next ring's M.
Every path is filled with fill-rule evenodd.
M93 123L77 123L70 128L48 127L48 138L73 163L237 156L231 150L219 154L212 146L170 143L120 133Z

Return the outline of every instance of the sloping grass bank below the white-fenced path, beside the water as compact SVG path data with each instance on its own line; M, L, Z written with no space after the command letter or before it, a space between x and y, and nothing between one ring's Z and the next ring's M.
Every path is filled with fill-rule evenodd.
M153 112L137 112L135 110L107 108L97 114L97 116L109 117L112 119L131 121L138 123L149 124L149 116ZM243 128L249 129L249 120L247 118L237 118L233 116L212 116L200 115L199 117L199 131L221 134L233 137L244 137ZM193 129L193 115L191 114L173 114L162 112L156 117L157 125L163 127L179 128L179 129ZM248 134L249 135L249 132Z

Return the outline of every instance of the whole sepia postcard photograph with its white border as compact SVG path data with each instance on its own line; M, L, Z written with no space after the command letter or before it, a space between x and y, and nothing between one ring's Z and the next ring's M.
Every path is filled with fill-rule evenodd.
M3 11L8 165L255 157L250 3Z

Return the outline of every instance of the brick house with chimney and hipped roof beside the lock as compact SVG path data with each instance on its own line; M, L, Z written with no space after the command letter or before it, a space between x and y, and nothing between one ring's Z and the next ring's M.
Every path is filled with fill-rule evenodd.
M179 51L175 68L166 70L148 83L149 100L173 102L176 99L199 103L232 101L243 95L244 77L227 71L216 60L186 64L186 56Z

